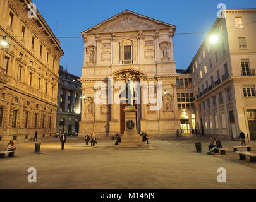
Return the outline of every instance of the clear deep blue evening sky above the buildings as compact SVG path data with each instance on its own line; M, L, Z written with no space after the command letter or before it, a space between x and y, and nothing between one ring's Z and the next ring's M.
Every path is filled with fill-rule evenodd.
M125 9L176 25L176 33L208 32L217 18L217 4L226 8L256 8L255 0L32 0L56 36L80 36L80 32ZM57 23L58 21L58 23ZM206 34L175 35L177 69L186 69ZM81 76L83 39L60 39L65 55L60 64Z

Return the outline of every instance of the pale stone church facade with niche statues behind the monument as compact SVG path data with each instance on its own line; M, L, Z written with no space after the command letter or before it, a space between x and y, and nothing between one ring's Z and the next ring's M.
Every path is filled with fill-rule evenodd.
M180 119L176 100L176 26L123 11L82 32L82 113L80 135L123 134L125 84L136 85L137 131L176 136ZM99 99L101 102L99 102Z

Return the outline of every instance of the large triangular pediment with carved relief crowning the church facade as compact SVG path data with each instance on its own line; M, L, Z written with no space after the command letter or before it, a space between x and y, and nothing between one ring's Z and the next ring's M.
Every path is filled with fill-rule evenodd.
M157 30L163 28L175 30L176 26L126 10L85 30L81 34Z

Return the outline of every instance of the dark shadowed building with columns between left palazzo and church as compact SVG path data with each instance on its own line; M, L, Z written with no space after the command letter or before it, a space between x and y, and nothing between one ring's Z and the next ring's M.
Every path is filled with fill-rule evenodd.
M61 133L79 132L82 91L79 77L59 66L58 111L56 128Z

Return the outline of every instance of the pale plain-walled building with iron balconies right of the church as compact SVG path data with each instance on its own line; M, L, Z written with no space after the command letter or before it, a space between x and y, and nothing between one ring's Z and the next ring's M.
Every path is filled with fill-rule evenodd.
M256 135L256 9L226 9L193 58L200 133L236 139Z

